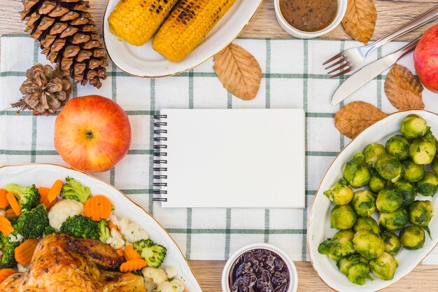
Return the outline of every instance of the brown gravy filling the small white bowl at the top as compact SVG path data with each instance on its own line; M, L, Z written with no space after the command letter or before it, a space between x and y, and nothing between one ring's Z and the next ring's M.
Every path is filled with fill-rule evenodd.
M280 0L284 19L303 32L318 32L333 22L338 0Z

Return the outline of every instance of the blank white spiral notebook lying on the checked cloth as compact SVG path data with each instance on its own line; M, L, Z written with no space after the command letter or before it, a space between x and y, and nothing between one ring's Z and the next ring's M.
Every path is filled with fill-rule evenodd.
M302 109L162 109L154 200L162 207L304 208Z

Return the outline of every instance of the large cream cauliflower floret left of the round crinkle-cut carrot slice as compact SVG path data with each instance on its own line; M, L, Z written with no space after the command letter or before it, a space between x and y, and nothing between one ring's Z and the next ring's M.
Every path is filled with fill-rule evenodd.
M84 205L76 200L62 200L53 205L48 213L49 223L52 228L59 232L62 223L69 216L75 216L84 213Z

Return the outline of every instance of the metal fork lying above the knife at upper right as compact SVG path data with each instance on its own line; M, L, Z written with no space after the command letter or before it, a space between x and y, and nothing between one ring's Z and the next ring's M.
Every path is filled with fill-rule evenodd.
M402 27L396 29L395 32L383 36L383 38L379 39L379 41L370 43L367 46L362 46L358 48L349 48L348 50L344 50L343 52L334 55L329 60L325 61L323 64L325 65L332 62L332 64L325 67L325 70L331 69L329 72L327 72L327 74L330 75L334 72L339 71L336 74L330 76L330 78L334 78L337 76L344 75L350 71L353 71L354 69L358 68L360 64L362 64L367 59L369 53L371 53L376 48L383 46L384 44L388 43L389 41L392 41L393 39L397 38L398 36L401 36L402 34L411 32L412 30L416 29L417 27L420 27L421 25L431 22L432 20L437 18L437 16L438 16L438 6L430 9L430 11L423 13L422 15L418 16L418 18L411 20L411 22L408 22L406 25L402 25ZM337 61L333 62L335 60ZM333 67L335 67L336 65L339 66L333 69Z

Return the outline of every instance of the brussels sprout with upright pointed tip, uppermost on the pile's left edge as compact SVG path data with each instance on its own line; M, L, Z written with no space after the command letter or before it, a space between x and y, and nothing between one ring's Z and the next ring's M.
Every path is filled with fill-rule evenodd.
M366 186L371 178L369 170L364 165L364 161L364 155L362 153L356 153L353 159L342 167L344 177L354 188Z

